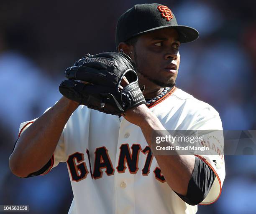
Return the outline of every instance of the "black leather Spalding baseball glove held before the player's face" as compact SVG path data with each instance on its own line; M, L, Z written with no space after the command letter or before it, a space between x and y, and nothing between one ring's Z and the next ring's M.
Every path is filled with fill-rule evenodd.
M65 76L68 80L61 82L61 94L88 108L120 116L130 108L146 104L135 65L124 53L87 54L67 68ZM120 89L123 77L129 84Z

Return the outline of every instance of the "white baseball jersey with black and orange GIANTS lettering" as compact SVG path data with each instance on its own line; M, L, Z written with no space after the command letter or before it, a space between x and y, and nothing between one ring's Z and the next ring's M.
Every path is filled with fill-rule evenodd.
M222 130L214 108L176 87L149 108L167 130ZM22 123L20 133L31 122ZM195 214L197 206L186 204L172 191L150 151L138 126L79 106L51 159L51 168L67 163L74 194L69 214ZM216 175L202 201L211 204L221 193L224 157L200 158Z

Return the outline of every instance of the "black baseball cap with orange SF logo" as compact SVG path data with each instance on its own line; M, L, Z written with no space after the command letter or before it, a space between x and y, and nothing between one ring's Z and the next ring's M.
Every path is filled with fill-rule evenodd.
M116 48L120 42L161 28L175 28L179 33L180 43L188 43L196 40L199 33L196 29L178 25L172 11L161 4L134 5L118 19L115 31Z

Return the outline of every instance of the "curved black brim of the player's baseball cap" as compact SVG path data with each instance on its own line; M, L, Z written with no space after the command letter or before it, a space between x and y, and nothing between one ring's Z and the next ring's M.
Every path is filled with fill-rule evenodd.
M195 28L191 28L188 26L184 26L184 25L164 25L164 26L159 26L157 28L151 28L149 30L145 30L143 32L138 33L137 35L140 35L142 33L147 33L153 30L158 30L161 28L175 28L178 33L179 33L179 42L180 43L189 43L192 41L195 41L198 37L199 37L199 33ZM135 36L135 35L133 35Z

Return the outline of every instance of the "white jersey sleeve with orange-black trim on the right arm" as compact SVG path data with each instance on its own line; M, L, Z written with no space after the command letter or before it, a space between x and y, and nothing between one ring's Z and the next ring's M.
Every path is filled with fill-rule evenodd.
M197 120L189 129L206 133L203 137L202 144L208 146L210 151L207 154L196 156L212 169L216 177L209 193L200 204L212 204L220 197L225 179L224 138L219 113L212 106L207 106L207 108L200 111Z

